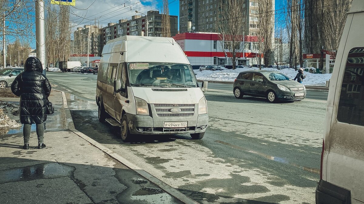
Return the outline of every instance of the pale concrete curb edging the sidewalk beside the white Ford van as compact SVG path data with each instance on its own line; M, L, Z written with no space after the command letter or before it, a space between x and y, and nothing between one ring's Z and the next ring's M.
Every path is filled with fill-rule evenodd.
M53 90L55 90L55 89L53 89ZM55 90L55 91L59 91L59 90ZM72 116L71 116L71 111L70 111L70 109L68 109L68 106L67 106L66 94L64 94L63 91L59 91L59 92L62 93L63 107L66 108L66 117L67 117L69 130L71 130L76 135L78 135L80 138L86 140L87 142L89 142L93 146L97 147L99 150L103 151L105 154L109 155L111 158L117 160L118 162L122 163L123 165L130 168L131 170L134 170L139 175L141 175L144 178L146 178L147 180L151 181L152 183L157 185L159 188L163 189L164 191L166 191L167 193L169 193L171 196L175 197L176 199L178 199L182 203L185 203L185 204L198 204L197 201L195 201L195 200L191 199L190 197L186 196L185 194L179 192L175 188L173 188L170 185L166 184L165 182L159 180L157 177L149 174L148 172L146 172L142 168L138 167L137 165L133 164L129 160L123 158L122 156L116 154L115 152L111 151L110 149L103 146L102 144L96 142L94 139L91 139L87 135L85 135L82 132L79 132L78 130L76 130L73 119L72 119Z

